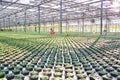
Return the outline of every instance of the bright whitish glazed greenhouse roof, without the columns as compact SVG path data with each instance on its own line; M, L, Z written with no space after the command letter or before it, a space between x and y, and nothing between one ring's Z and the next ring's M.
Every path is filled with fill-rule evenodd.
M46 1L46 2L44 2ZM40 7L41 18L50 21L53 17L59 19L60 0L2 0L0 2L0 19L17 14L18 18L24 17L27 11L29 22L36 21L38 7ZM63 19L98 18L100 16L101 0L62 0ZM103 16L106 11L109 18L120 16L120 0L103 0ZM52 16L52 17L51 17ZM113 17L114 16L114 17Z

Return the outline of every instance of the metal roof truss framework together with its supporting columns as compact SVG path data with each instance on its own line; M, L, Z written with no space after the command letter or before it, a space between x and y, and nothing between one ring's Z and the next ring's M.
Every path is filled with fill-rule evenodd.
M21 0L0 1L0 27L59 24L96 23L102 27L107 22L120 24L120 1L113 0Z

